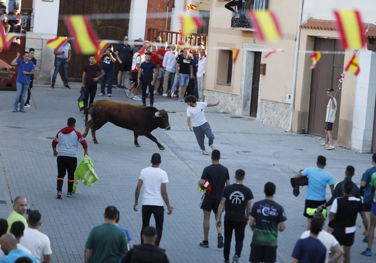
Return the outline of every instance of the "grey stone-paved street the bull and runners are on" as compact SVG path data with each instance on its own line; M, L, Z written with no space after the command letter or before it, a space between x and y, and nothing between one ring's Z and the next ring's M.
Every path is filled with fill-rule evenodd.
M38 111L31 107L26 108L26 113L11 112L15 92L0 92L0 189L4 189L4 193L0 191L1 216L6 215L1 207L2 200L9 200L9 212L10 200L17 195L26 196L29 206L42 213L40 230L51 239L53 262L83 262L88 233L93 226L102 224L102 215L108 205L118 207L120 225L129 229L137 244L140 242L141 209L133 211L134 190L139 172L150 165L151 155L157 152L162 156L161 168L169 176L167 190L174 207L172 215L165 214L161 247L167 250L171 262L222 262L222 250L216 248L214 216L209 233L210 248L198 246L203 233L197 181L202 169L211 161L210 156L200 154L196 138L186 125L186 105L175 99L170 101L156 96L154 104L158 109L177 111L169 114L170 131L158 129L153 132L166 147L164 151L144 137L139 137L141 148L135 148L132 131L108 123L96 133L98 145L91 141L90 134L86 138L100 180L91 189L80 184L74 198L56 199L57 169L51 149L52 138L65 126L68 117L77 119L77 130L83 132L84 129L76 100L79 83L72 83L72 87L67 90L36 85L33 95ZM113 95L111 100L140 103L127 99L119 89L114 89ZM285 133L252 119L220 113L219 109L207 108L206 118L215 135L215 146L221 151L221 163L229 168L231 182L235 170L244 169L244 184L253 191L253 203L264 198L263 186L267 181L276 183L275 200L284 207L288 218L287 230L279 233L278 262L289 262L293 246L306 228L302 215L306 189L297 198L293 196L290 177L300 169L314 166L317 156L323 154L327 157L327 170L336 181L343 180L347 165L353 165L356 170L353 180L359 185L362 173L371 166L371 155L340 147L324 152L319 145L320 138ZM80 148L78 158L82 155ZM65 183L64 192L66 187ZM328 187L328 198L329 192ZM140 198L139 208L142 194ZM154 224L153 219L150 224ZM361 242L359 217L357 225L360 228L356 231L352 261L374 262L376 255L359 255L366 246ZM240 262L248 262L251 240L252 231L247 227ZM230 255L234 253L234 245L233 240ZM375 246L373 251L376 251Z

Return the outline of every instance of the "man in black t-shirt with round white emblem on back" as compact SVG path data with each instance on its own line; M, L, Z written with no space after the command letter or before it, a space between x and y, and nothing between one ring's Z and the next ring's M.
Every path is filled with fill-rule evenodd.
M223 208L226 210L224 214L223 248L225 262L229 262L230 260L232 230L235 230L235 255L232 258L232 262L238 262L241 250L243 249L244 230L252 208L253 194L251 189L243 185L244 175L246 175L246 172L242 169L238 169L235 172L235 183L224 187L222 200L218 207L217 227L221 227L222 224L221 215Z

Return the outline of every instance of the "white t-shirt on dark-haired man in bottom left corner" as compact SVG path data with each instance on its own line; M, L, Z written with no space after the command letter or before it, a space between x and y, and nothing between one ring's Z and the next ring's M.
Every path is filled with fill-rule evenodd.
M36 229L25 228L24 236L21 237L20 243L31 251L38 263L43 261L43 255L52 254L49 237Z

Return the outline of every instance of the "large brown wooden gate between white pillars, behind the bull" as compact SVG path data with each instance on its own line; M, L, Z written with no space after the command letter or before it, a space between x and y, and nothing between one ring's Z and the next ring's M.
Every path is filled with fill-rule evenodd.
M60 0L59 16L72 14L116 14L129 13L130 0ZM99 39L114 39L122 41L128 34L129 19L95 19L90 20L96 30ZM67 34L68 29L64 20L59 20L58 36ZM72 45L72 42L69 41ZM114 51L118 44L114 44ZM68 67L68 79L70 81L81 81L83 66L88 63L87 55L77 55L72 45L72 58ZM117 83L118 63L115 63L114 82ZM60 69L61 76L62 68Z

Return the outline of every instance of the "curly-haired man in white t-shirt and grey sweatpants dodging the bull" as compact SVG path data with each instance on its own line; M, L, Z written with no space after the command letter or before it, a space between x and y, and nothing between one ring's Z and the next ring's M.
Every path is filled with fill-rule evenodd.
M187 123L189 126L190 131L194 131L194 135L196 135L197 142L201 148L201 153L205 155L209 155L209 153L205 150L204 140L205 135L209 139L209 147L212 150L215 150L213 145L214 135L212 133L210 124L205 119L205 112L204 109L206 107L214 107L219 104L219 101L216 104L210 104L206 102L196 102L196 97L189 95L185 98L185 103L189 106L187 108ZM191 125L192 121L192 125Z

